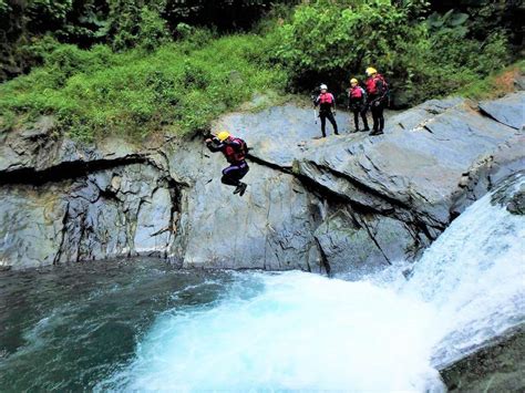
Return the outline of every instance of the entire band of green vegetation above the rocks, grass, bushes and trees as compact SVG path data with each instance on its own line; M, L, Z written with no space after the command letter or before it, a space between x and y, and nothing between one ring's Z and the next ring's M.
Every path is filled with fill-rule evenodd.
M443 12L439 2L425 0L289 6L296 2L277 2L254 28L258 34L220 35L217 25L238 30L238 12L253 21L269 2L0 0L0 15L12 22L22 14L30 30L12 39L17 44L10 49L42 64L0 85L0 131L22 117L53 114L60 132L82 139L184 134L205 130L257 93L244 110L282 101L282 90L309 92L320 82L342 99L349 77L362 80L369 65L388 79L397 107L459 92L482 97L506 91L501 77L485 79L515 60L515 38L502 28L514 23L513 4L482 1ZM217 24L217 7L234 17ZM209 29L188 24L192 15Z

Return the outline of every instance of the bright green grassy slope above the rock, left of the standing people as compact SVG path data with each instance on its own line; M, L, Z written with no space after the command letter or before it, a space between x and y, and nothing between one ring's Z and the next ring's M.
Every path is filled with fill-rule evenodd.
M61 133L83 141L205 130L256 93L278 100L268 92L287 79L261 61L266 50L251 34L169 43L153 53L56 44L44 66L0 85L0 130L41 114L53 114Z

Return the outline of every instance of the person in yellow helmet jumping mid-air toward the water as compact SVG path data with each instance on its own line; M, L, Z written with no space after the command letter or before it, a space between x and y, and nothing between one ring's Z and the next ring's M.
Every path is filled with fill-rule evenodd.
M220 182L228 186L235 186L234 194L243 196L248 185L240 182L249 170L246 163L248 147L241 138L231 136L227 131L222 131L214 138L206 139L206 146L212 153L223 152L229 166L223 169Z

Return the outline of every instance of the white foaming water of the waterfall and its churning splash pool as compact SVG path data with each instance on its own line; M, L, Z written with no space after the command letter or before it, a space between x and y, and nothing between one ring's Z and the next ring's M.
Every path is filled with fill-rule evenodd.
M99 389L439 391L434 365L523 322L524 238L485 196L408 281L239 273L220 302L163 313Z

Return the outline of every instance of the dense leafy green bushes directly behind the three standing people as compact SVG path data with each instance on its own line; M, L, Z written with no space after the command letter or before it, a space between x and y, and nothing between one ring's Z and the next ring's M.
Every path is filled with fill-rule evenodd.
M398 106L450 94L508 62L502 30L481 43L470 38L466 18L435 27L435 20L434 25L420 20L424 11L424 2L303 4L277 30L275 59L285 63L295 86L326 82L336 92L373 65L390 81Z

